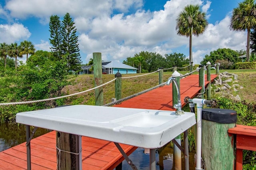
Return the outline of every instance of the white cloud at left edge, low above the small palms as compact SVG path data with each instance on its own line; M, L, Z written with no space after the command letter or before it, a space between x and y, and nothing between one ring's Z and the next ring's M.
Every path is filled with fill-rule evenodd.
M15 41L23 41L28 39L31 33L28 28L19 23L12 25L0 24L0 42L3 43L14 43Z

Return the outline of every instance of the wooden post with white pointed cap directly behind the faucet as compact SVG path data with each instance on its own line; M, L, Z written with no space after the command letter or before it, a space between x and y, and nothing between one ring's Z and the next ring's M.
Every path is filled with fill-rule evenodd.
M178 84L178 88L180 88L180 73L178 73L177 71L174 71L172 74L172 77L175 77ZM178 91L175 84L172 82L172 107L174 106L174 104L178 104ZM180 135L178 135L175 138L175 140L178 142L179 145L181 145ZM181 150L176 145L174 145L173 149L174 149L174 161L173 161L174 170L181 170L181 166L182 166Z

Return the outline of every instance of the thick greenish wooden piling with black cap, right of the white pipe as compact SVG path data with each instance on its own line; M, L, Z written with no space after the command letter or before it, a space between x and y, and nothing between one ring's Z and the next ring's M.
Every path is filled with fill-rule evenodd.
M234 170L234 138L228 129L236 126L236 111L202 109L202 158L207 170Z

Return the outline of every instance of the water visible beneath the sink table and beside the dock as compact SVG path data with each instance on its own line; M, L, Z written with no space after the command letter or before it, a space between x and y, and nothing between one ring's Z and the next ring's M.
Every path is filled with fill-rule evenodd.
M31 127L32 130L33 127ZM34 137L38 137L45 133L50 132L48 129L38 128ZM34 138L33 137L33 138ZM18 124L4 123L0 125L0 152L10 147L14 147L21 143L26 142L26 126ZM150 170L149 155L144 154L144 149L138 148L129 158L136 165L139 170ZM170 145L166 145L161 149L156 150L156 170L172 170L173 169L173 149ZM183 156L182 156L183 157ZM182 160L184 162L184 160ZM190 153L190 170L195 169L194 153ZM182 165L184 168L184 165ZM131 170L130 165L124 160L122 162L123 170Z

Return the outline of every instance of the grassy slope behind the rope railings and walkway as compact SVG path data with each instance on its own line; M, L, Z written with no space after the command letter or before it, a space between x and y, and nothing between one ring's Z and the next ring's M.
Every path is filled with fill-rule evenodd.
M238 84L243 86L236 94L240 96L242 100L246 100L250 103L256 103L256 70L220 70L220 72L228 71L230 73L238 74ZM181 74L186 72L180 71ZM215 71L212 71L214 74ZM145 73L142 73L145 74ZM124 74L122 77L138 76L142 74ZM197 73L195 73L197 74ZM172 75L172 72L164 72L164 81ZM113 74L103 74L103 83L106 83L114 79ZM70 80L72 85L69 85L63 89L64 94L73 94L81 92L94 87L94 78L92 74L78 75L76 78ZM136 78L122 79L122 98L136 94L148 88L158 85L158 73L152 73L146 76L140 76ZM104 104L110 103L114 98L114 82L107 84L103 87ZM86 92L77 96L70 97L66 100L66 104L88 104L94 105L94 90Z

